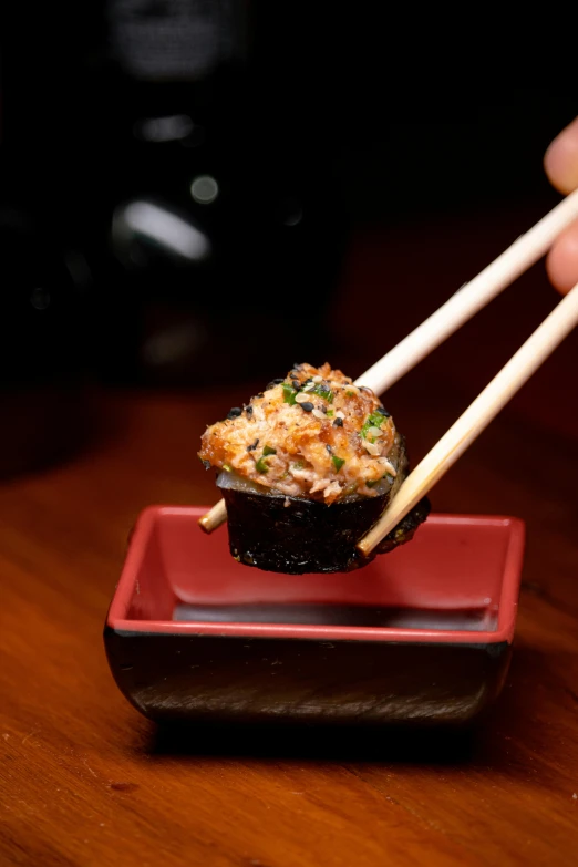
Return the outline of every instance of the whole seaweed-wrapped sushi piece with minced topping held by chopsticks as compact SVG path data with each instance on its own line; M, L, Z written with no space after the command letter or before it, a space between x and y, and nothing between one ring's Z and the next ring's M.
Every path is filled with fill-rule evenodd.
M329 364L295 364L202 437L218 471L231 555L290 575L351 571L409 541L417 506L364 557L355 545L409 472L404 437L375 394Z

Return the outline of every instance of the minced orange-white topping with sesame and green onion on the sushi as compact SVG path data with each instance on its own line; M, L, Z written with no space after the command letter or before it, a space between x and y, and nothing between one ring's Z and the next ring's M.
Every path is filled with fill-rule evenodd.
M393 482L400 436L371 389L329 364L296 364L207 427L199 457L286 496L327 504ZM380 486L380 487L378 487Z

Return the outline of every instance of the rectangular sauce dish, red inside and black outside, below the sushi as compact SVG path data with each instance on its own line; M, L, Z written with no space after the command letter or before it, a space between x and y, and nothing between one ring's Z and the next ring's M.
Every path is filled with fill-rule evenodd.
M104 632L112 673L171 721L465 723L507 672L524 555L513 517L432 515L354 572L236 562L207 506L140 516Z

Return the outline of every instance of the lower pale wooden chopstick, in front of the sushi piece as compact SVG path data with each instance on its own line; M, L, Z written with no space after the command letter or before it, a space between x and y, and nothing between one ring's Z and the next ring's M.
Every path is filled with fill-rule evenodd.
M362 554L379 545L427 494L577 324L578 283L403 482L390 507L358 543Z

